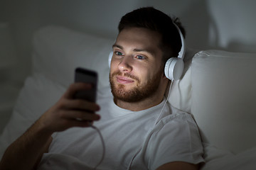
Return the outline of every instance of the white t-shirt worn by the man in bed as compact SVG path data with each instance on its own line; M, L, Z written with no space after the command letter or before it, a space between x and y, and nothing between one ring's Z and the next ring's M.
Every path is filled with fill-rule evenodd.
M137 112L119 108L110 96L97 103L101 119L94 125L106 146L105 158L97 169L143 170L157 169L168 162L203 162L201 137L193 118L168 103L164 106L165 100ZM156 123L159 113L161 120ZM70 128L53 137L38 169L93 169L102 152L95 129Z

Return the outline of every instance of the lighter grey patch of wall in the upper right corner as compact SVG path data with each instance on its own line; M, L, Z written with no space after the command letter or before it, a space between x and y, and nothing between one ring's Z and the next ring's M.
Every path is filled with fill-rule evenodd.
M209 13L215 23L213 47L235 52L256 52L256 20L254 0L208 1Z

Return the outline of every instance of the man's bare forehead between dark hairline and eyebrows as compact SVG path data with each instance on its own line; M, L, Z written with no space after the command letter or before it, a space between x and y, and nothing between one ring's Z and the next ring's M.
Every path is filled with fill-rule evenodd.
M146 28L125 28L117 36L115 45L126 49L140 49L152 53L161 52L161 35Z

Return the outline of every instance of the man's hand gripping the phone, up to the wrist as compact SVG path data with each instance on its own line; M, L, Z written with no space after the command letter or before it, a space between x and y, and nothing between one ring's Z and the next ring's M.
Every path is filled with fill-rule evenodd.
M75 92L91 88L90 84L71 84L60 100L39 118L38 123L49 132L59 132L72 127L89 127L93 121L100 120L100 115L95 114L100 106L73 98Z

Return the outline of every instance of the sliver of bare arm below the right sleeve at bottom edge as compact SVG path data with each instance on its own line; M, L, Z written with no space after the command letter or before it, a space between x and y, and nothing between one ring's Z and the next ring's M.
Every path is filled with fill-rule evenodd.
M156 170L197 170L198 165L189 164L186 162L170 162L168 164L164 164L160 166Z

